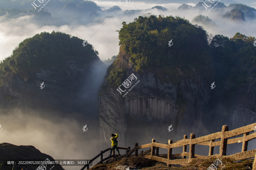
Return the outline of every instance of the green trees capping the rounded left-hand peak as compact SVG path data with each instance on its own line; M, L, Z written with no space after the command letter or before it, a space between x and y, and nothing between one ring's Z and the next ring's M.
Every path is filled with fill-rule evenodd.
M46 66L61 66L69 58L79 60L79 64L99 59L92 45L83 48L82 42L78 37L54 31L25 39L10 57L0 62L0 84L9 71L24 75L27 71L38 71Z

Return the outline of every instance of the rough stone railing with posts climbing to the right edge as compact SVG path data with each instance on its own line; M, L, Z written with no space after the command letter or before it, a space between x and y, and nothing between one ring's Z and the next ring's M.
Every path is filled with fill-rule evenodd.
M124 149L127 149L126 154L117 156L111 160L109 160L110 157L103 159L103 156L101 156L101 161L99 163L103 163L104 161L106 161L106 163L111 163L121 158L125 158L125 157L127 158L132 156L141 156L141 157L156 160L159 162L164 162L169 167L172 164L186 164L191 162L194 159L230 158L233 161L245 160L245 159L253 158L256 155L256 149L247 151L248 141L256 138L256 133L249 134L249 132L254 131L253 130L254 126L256 126L256 123L228 131L228 126L224 125L222 126L221 132L212 133L210 135L206 135L198 138L195 138L195 134L191 133L190 139L187 139L187 135L184 135L184 138L182 140L173 142L172 139L169 139L167 144L157 143L155 139L152 139L152 143L145 144L145 145L138 145L138 143L135 143L135 147L131 150L129 150L128 148L124 148ZM236 137L238 135L243 135L243 136L233 138L233 139L228 139L231 137ZM215 139L220 139L220 141L214 141ZM243 143L242 150L239 153L226 156L227 145L232 143ZM189 152L187 152L187 145L189 145ZM195 145L209 146L208 156L195 154ZM220 146L219 154L213 155L214 146ZM172 148L177 148L177 147L183 147L183 152L178 154L172 154ZM118 147L118 148L121 149L121 147ZM143 152L143 150L141 150L141 153L139 154L138 150L143 148L150 148L150 149L147 150L146 152ZM165 148L168 150L167 158L159 157L159 148ZM110 148L106 150L110 150ZM135 153L132 154L133 152ZM104 151L101 151L101 153L98 154L96 157L103 155L103 153ZM148 153L151 153L151 154L148 155ZM182 157L183 159L175 159L176 157ZM92 160L90 161L90 163L91 162ZM86 166L87 166L87 169L89 168L88 165L85 165L81 170L83 170ZM254 160L254 163L253 163L253 170L256 170L256 160Z

